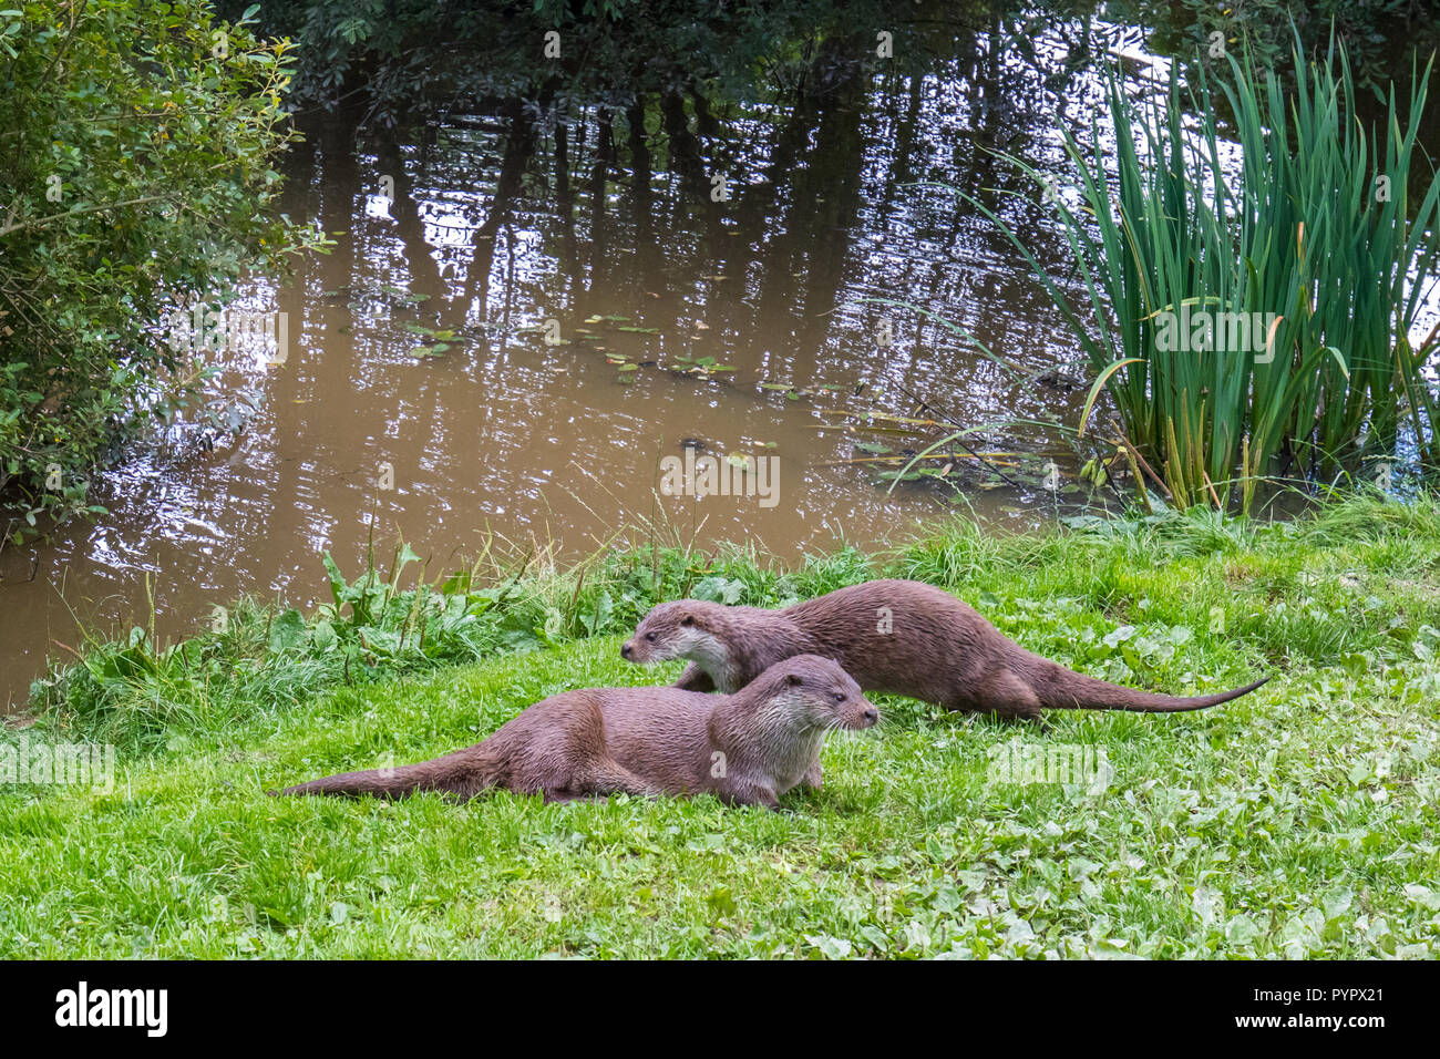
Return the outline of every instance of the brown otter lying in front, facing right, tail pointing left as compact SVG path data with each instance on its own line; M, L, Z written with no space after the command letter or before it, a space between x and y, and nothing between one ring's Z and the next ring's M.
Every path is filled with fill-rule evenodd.
M819 746L838 728L870 728L876 707L829 658L783 658L734 694L674 687L592 687L528 706L488 739L405 768L344 772L281 794L442 791L472 798L491 787L547 801L704 794L775 808L818 777Z

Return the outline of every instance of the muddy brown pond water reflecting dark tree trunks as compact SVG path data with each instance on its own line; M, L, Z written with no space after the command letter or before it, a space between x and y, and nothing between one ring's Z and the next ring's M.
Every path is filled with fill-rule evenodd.
M654 108L644 135L636 114L579 104L537 125L501 102L393 137L305 125L287 209L336 246L242 300L285 314L284 360L212 353L212 399L238 434L192 421L141 439L98 481L108 514L4 548L0 702L23 703L78 621L124 633L154 612L173 638L242 594L314 605L321 552L353 573L372 535L403 536L438 575L491 535L559 558L652 535L793 558L956 509L1030 524L1089 503L1035 426L969 439L1008 454L994 457L1008 481L959 458L932 464L953 463L958 490L887 494L854 463L948 432L870 412L1073 425L1083 401L940 323L1027 373L1076 360L1024 259L927 182L985 195L1058 261L1038 193L982 190L1014 184L986 148L1058 171L1057 114L1089 124L1094 85L1056 37L1025 59L984 33L955 50L924 76L865 68L714 125L665 128ZM687 452L769 460L773 493L661 496L662 460ZM1048 458L1058 496L1032 474Z

